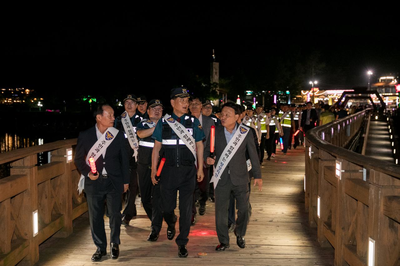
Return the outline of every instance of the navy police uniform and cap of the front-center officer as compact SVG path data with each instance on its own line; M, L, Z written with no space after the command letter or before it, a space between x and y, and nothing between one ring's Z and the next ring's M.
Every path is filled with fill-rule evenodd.
M186 93L186 89L182 89L180 97L188 97L189 95L183 93L183 91ZM194 141L198 142L204 139L202 126L196 117L187 114L178 117L174 113L172 113L171 117L180 122L189 131ZM175 241L178 245L186 245L189 240L192 200L197 175L195 158L190 149L186 147L164 119L157 123L152 139L162 143L160 157L166 158L159 182L162 214L168 224L168 228L174 229L177 219L174 210L176 208L176 195L179 190L180 233Z

